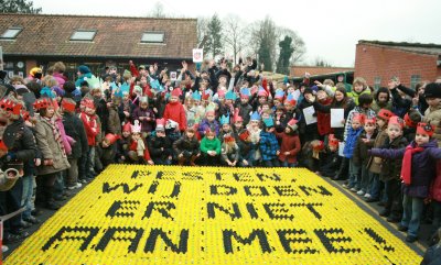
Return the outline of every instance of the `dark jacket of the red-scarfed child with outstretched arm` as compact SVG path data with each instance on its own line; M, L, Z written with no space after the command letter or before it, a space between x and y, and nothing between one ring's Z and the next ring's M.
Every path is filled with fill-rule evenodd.
M415 141L410 143L416 146ZM404 192L410 197L427 198L432 180L437 176L437 159L441 159L441 148L438 148L435 140L423 144L424 151L412 156L410 185L404 185ZM389 159L402 158L406 148L372 148L370 154Z

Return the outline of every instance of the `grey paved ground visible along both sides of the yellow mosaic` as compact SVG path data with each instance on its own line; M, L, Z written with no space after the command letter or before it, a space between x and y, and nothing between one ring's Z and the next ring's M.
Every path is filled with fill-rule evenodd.
M355 192L352 192L352 191L343 188L342 187L343 181L334 181L334 180L331 180L330 178L326 178L326 177L324 177L324 179L326 181L329 181L331 185L333 185L334 187L338 188L344 195L346 195L348 198L351 198L353 201L355 201L362 209L367 211L370 216L375 217L377 220L380 221L380 223L383 225L388 228L389 231L391 231L399 239L405 241L406 233L399 232L397 230L397 224L388 223L385 218L381 218L381 217L378 216L378 211L381 210L381 207L378 206L377 202L373 202L373 203L365 202L361 196L358 196ZM69 197L69 199L73 198L78 191L80 191L86 186L83 186L79 189L69 190L69 192L72 192L72 196ZM68 199L65 200L65 201L61 201L61 203L65 205L67 201L68 201ZM50 219L54 212L55 211L43 209L42 210L42 214L37 217L41 220L41 223L32 225L31 228L26 229L26 231L30 234L32 234L33 232L39 230L40 225L44 221ZM413 243L413 244L408 244L408 245L411 246L413 250L416 250L418 253L424 253L426 249L428 247L428 241L427 240L429 239L429 236L430 236L430 224L424 221L422 223L422 225L421 225L421 231L420 231L420 236L419 236L420 240L418 242ZM3 258L8 257L8 255L11 254L18 246L20 246L21 243L22 242L18 242L15 244L9 244L8 245L9 246L9 251L3 253Z

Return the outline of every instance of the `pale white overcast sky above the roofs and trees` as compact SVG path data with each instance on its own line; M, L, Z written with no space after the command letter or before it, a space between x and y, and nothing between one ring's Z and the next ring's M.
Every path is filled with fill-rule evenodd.
M358 40L441 44L440 0L33 0L43 13L122 16L146 16L157 2L175 16L234 13L250 23L269 15L303 38L305 63L321 57L333 66L353 66Z

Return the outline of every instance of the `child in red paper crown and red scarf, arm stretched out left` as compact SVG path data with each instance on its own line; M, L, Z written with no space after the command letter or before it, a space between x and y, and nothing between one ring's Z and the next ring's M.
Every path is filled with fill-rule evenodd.
M398 227L407 231L407 242L418 240L420 220L424 202L433 198L430 190L435 177L437 159L441 159L441 150L432 139L435 128L428 123L418 123L417 134L407 147L399 150L373 148L370 153L387 159L401 161L400 181L402 186L404 214ZM437 181L435 181L437 183ZM438 186L439 187L439 186ZM439 190L438 190L439 192Z

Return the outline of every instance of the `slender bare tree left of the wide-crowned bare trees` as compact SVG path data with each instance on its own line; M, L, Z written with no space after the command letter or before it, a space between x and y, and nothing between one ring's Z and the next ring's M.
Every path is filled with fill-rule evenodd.
M225 46L233 53L233 59L236 64L238 54L244 49L247 31L244 31L244 22L236 14L225 16L223 24Z

